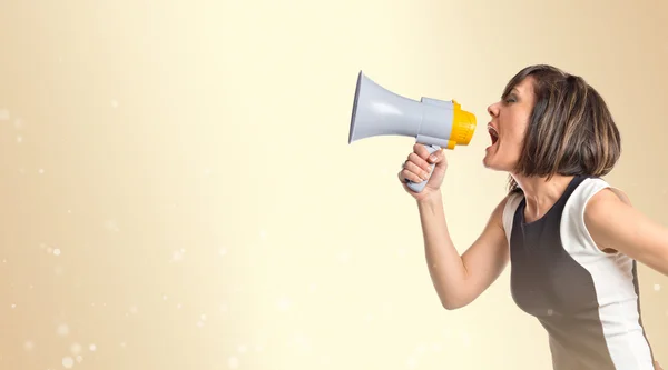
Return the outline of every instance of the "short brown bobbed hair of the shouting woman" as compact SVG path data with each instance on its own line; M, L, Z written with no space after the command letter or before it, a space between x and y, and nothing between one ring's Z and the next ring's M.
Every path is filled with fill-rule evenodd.
M548 180L608 174L621 154L621 138L601 96L579 76L537 64L508 82L503 100L528 77L533 78L536 106L513 172ZM509 191L522 191L512 176Z

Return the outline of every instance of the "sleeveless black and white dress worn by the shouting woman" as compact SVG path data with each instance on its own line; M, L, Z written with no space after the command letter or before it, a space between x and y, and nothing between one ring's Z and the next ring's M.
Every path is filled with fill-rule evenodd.
M636 261L598 249L584 224L584 206L606 188L616 191L574 177L539 220L525 222L522 193L503 212L513 300L548 331L557 370L654 370Z

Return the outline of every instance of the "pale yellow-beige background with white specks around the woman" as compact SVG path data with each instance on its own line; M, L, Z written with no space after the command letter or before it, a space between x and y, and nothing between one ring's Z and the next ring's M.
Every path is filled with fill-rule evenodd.
M504 193L485 108L551 63L607 99L608 177L668 224L665 1L3 1L0 368L549 369L508 272L439 304L410 138L347 144L356 74L479 118L443 187L460 251ZM640 268L668 364L668 279ZM661 289L662 288L662 289Z

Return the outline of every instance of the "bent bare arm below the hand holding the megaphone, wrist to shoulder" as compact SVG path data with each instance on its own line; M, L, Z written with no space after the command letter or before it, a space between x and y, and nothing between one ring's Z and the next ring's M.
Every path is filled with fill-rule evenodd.
M497 206L481 236L460 257L448 231L441 192L418 201L429 272L441 303L448 310L477 299L509 261L502 213L507 199Z

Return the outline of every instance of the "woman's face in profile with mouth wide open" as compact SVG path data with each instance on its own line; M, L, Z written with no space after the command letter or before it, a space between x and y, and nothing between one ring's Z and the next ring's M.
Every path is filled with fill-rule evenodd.
M520 159L524 133L534 106L533 78L518 83L502 101L488 108L492 144L482 160L485 168L512 172Z

